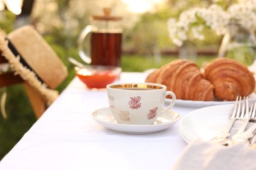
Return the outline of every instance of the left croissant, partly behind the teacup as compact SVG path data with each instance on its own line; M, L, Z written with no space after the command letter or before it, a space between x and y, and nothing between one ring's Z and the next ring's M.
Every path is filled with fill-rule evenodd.
M146 82L163 84L175 93L177 99L211 101L213 85L203 78L198 65L186 59L176 59L156 69Z

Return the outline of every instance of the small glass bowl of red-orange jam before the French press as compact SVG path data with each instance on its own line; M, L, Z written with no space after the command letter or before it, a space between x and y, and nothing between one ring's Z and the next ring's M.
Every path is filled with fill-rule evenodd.
M114 82L120 75L121 68L104 65L86 65L75 67L75 74L87 86L87 88L106 88L106 85Z

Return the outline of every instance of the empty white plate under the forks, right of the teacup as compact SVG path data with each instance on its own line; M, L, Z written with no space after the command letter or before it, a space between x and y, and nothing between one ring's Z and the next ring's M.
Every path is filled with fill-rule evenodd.
M189 143L195 139L209 140L227 124L233 105L217 105L194 110L181 119L179 133Z

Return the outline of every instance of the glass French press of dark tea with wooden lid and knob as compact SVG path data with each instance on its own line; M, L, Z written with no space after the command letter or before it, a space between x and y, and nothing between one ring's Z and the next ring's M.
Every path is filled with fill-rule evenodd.
M104 8L104 16L92 16L91 25L87 25L79 34L79 56L91 65L121 65L121 17L110 16L111 9ZM91 34L91 55L87 52L86 38Z

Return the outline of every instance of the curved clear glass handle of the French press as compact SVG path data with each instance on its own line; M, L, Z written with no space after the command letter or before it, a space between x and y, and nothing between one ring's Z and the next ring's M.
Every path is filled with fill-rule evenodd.
M85 28L81 30L78 36L78 53L81 59L85 61L85 63L91 64L91 57L83 50L83 41L85 41L85 37L91 33L93 30L92 25L87 25Z

